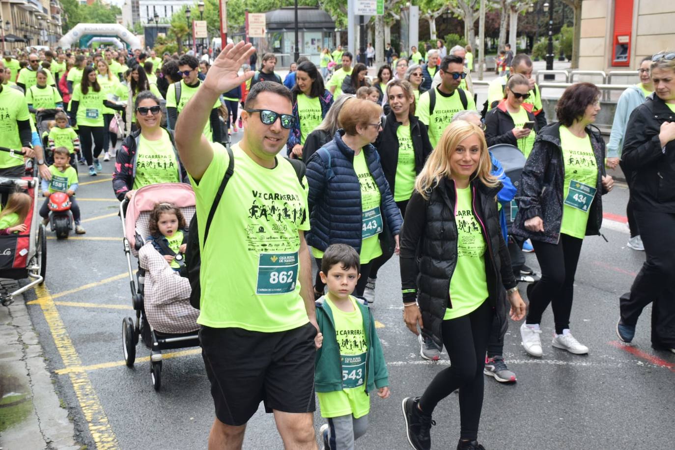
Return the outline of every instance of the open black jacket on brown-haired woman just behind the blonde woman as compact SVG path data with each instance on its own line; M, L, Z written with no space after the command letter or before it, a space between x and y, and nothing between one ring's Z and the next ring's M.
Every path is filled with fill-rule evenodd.
M398 136L396 135L396 130L398 130L400 125L401 123L396 120L396 115L389 113L384 128L374 144L380 155L382 170L392 194L396 192L394 190L396 167L398 167ZM415 174L419 175L425 161L427 161L427 157L429 157L429 154L433 150L433 146L429 142L427 125L419 121L414 115L410 116L410 138L412 138L412 150L415 153Z

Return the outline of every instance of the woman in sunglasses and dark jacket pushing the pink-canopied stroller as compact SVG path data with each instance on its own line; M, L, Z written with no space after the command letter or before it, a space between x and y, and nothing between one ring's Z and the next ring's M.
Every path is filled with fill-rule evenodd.
M120 202L148 184L188 182L173 132L161 127L159 98L149 90L140 92L134 111L138 128L117 150L113 173L113 190Z

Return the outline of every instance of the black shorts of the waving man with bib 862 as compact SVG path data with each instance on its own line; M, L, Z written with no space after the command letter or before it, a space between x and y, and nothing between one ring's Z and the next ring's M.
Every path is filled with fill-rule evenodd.
M311 323L279 333L202 326L199 341L218 420L246 424L261 401L267 412L314 412L316 335Z

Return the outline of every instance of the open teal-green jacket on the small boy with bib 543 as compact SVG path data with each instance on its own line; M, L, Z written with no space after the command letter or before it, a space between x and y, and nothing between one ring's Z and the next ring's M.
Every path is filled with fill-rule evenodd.
M315 362L314 385L317 392L342 391L342 365L340 363L340 345L335 336L333 311L324 302L322 296L317 300L317 325L323 333L323 345L317 350ZM371 308L365 306L360 299L356 304L363 316L363 331L366 336L366 393L389 385L387 363L384 352L375 331L375 319Z

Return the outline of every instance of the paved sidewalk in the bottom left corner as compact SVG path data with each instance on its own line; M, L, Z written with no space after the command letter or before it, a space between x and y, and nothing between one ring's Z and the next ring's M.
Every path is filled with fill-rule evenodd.
M0 290L18 288L1 280ZM0 450L78 450L22 296L0 305Z

